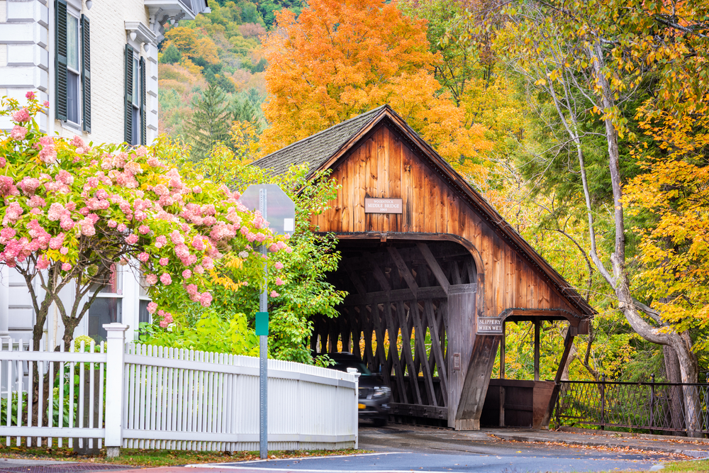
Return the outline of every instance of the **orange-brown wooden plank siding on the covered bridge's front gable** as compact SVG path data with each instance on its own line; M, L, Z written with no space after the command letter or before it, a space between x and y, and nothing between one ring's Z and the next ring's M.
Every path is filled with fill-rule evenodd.
M581 318L579 308L569 304L529 257L512 247L389 124L380 123L331 167L331 177L342 187L328 211L313 216L313 226L321 232L457 235L483 262L476 269L484 273L485 316L535 308L560 309ZM365 214L365 196L402 199L403 213Z

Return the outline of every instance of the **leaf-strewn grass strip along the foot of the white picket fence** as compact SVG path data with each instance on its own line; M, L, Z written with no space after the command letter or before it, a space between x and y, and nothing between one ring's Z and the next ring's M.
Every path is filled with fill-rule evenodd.
M269 458L323 457L328 455L355 455L369 450L274 450ZM141 450L122 448L121 455L106 458L106 450L97 457L79 457L70 448L6 447L0 446L0 457L27 460L61 460L68 462L125 464L134 467L174 467L190 463L224 463L258 460L259 452L193 452L190 450Z

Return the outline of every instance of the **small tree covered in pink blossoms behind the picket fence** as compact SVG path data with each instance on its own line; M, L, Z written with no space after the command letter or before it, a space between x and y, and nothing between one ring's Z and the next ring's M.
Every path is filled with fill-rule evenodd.
M225 255L238 255L229 261L239 280L259 284L255 245L289 250L261 216L238 203L238 193L164 165L159 156L169 150L47 136L34 116L48 104L32 92L27 99L26 106L0 102L0 114L14 123L0 131L0 264L26 281L37 314L35 350L52 303L69 349L116 264L145 275L153 299L148 310L167 325L180 307L211 305L213 269ZM69 306L63 289L74 293Z

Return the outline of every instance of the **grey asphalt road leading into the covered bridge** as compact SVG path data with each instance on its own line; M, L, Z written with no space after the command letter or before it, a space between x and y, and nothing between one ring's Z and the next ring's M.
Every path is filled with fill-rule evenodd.
M374 454L214 465L220 472L600 472L660 469L676 457L542 443L517 443L491 433L459 433L411 425L359 425L359 448ZM195 465L198 466L198 465ZM200 465L204 466L204 465Z

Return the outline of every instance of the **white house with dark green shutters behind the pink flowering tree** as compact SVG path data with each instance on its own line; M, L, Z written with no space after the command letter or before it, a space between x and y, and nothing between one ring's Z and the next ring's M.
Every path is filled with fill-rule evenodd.
M0 0L0 96L23 103L27 91L49 101L43 131L86 143L143 145L157 137L157 45L167 23L208 13L206 0ZM0 128L9 129L8 117ZM32 339L35 314L24 280L0 265L0 338ZM43 294L36 284L35 290ZM72 304L72 290L62 299ZM135 336L148 321L149 299L128 266L110 284L74 335L104 338L101 325L122 322ZM67 302L69 304L67 304ZM44 347L62 340L50 308Z

